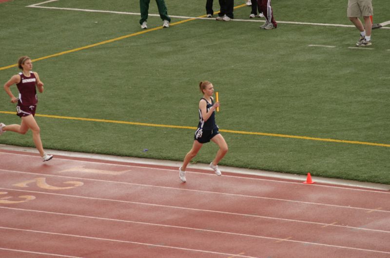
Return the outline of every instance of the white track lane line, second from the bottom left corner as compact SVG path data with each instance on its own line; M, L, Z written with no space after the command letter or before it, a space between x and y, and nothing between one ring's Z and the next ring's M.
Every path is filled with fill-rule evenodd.
M182 248L182 247L176 247L176 246L158 245L158 244L150 244L150 243L141 243L141 242L134 242L134 241L124 241L124 240L117 240L117 239L96 238L96 237L80 236L80 235L73 235L73 234L62 234L62 233L55 233L55 232L22 229L22 228L3 227L3 226L0 226L0 228L9 229L9 230L17 230L17 231L25 231L25 232L33 232L33 233L41 233L41 234L58 235L58 236L65 236L65 237L76 237L76 238L84 238L84 239L92 239L92 240L102 240L102 241L114 241L114 242L121 242L121 243L140 244L140 245L146 245L146 246L178 249L178 250L184 250L184 251L193 251L193 252L216 254L216 255L225 255L225 256L232 256L232 255L234 255L234 254L226 254L226 253L219 253L219 252L206 251L206 250ZM359 249L359 250L365 250L365 249ZM371 251L371 252L381 252L381 251ZM253 257L250 257L250 256L241 256L241 255L239 257L253 258Z

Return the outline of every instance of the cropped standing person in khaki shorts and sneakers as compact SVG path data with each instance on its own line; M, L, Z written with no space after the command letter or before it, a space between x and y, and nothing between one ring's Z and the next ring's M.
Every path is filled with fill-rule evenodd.
M347 16L355 27L360 31L360 38L356 43L358 47L372 45L371 30L372 22L370 16L373 15L372 0L348 0ZM363 16L364 24L359 19Z

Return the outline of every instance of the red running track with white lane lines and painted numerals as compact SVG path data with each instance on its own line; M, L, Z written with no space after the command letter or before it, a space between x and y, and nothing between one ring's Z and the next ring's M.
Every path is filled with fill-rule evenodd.
M0 257L390 257L390 192L0 150Z

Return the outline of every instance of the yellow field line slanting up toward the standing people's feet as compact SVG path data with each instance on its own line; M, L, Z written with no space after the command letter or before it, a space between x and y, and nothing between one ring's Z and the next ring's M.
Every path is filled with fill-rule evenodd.
M241 4L241 5L235 6L234 9L240 8L240 7L243 7L243 6L245 6L245 4ZM219 13L219 11L216 12L216 14L217 13ZM202 17L206 17L206 15L198 16L197 18L202 18ZM177 21L177 22L171 23L170 26L175 26L175 25L178 25L178 24L181 24L181 23L184 23L184 22L187 22L187 21L192 21L192 20L195 20L195 19L196 18L190 18L190 19ZM95 44L91 44L91 45L88 45L88 46L84 46L84 47L80 47L80 48L76 48L76 49L71 49L71 50L59 52L59 53L56 53L56 54L51 54L51 55L39 57L39 58L36 58L36 59L32 59L31 61L35 62L35 61L39 61L39 60L44 60L44 59L60 56L60 55L63 55L63 54L73 53L73 52L77 52L77 51L80 51L80 50L97 47L97 46L100 46L100 45L104 45L104 44L111 43L111 42L114 42L114 41L118 41L118 40L121 40L121 39L125 39L125 38L128 38L128 37L133 37L133 36L137 36L137 35L140 35L140 34L145 34L145 33L156 31L156 30L161 30L162 28L163 28L162 26L159 26L159 27L156 27L156 28L147 29L147 30L144 30L144 31L140 31L140 32L136 32L136 33L120 36L120 37L117 37L117 38L104 40L104 41L101 41L101 42L98 42L98 43L95 43ZM0 67L0 70L5 70L5 69L17 67L17 66L18 66L18 64L4 66L4 67Z

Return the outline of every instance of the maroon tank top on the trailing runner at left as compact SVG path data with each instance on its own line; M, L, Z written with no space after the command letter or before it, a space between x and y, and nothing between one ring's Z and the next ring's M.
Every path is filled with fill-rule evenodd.
M19 75L20 83L16 85L19 90L19 102L24 106L36 105L38 103L38 97L36 88L37 78L35 74L31 71L30 77L25 76L22 72Z

